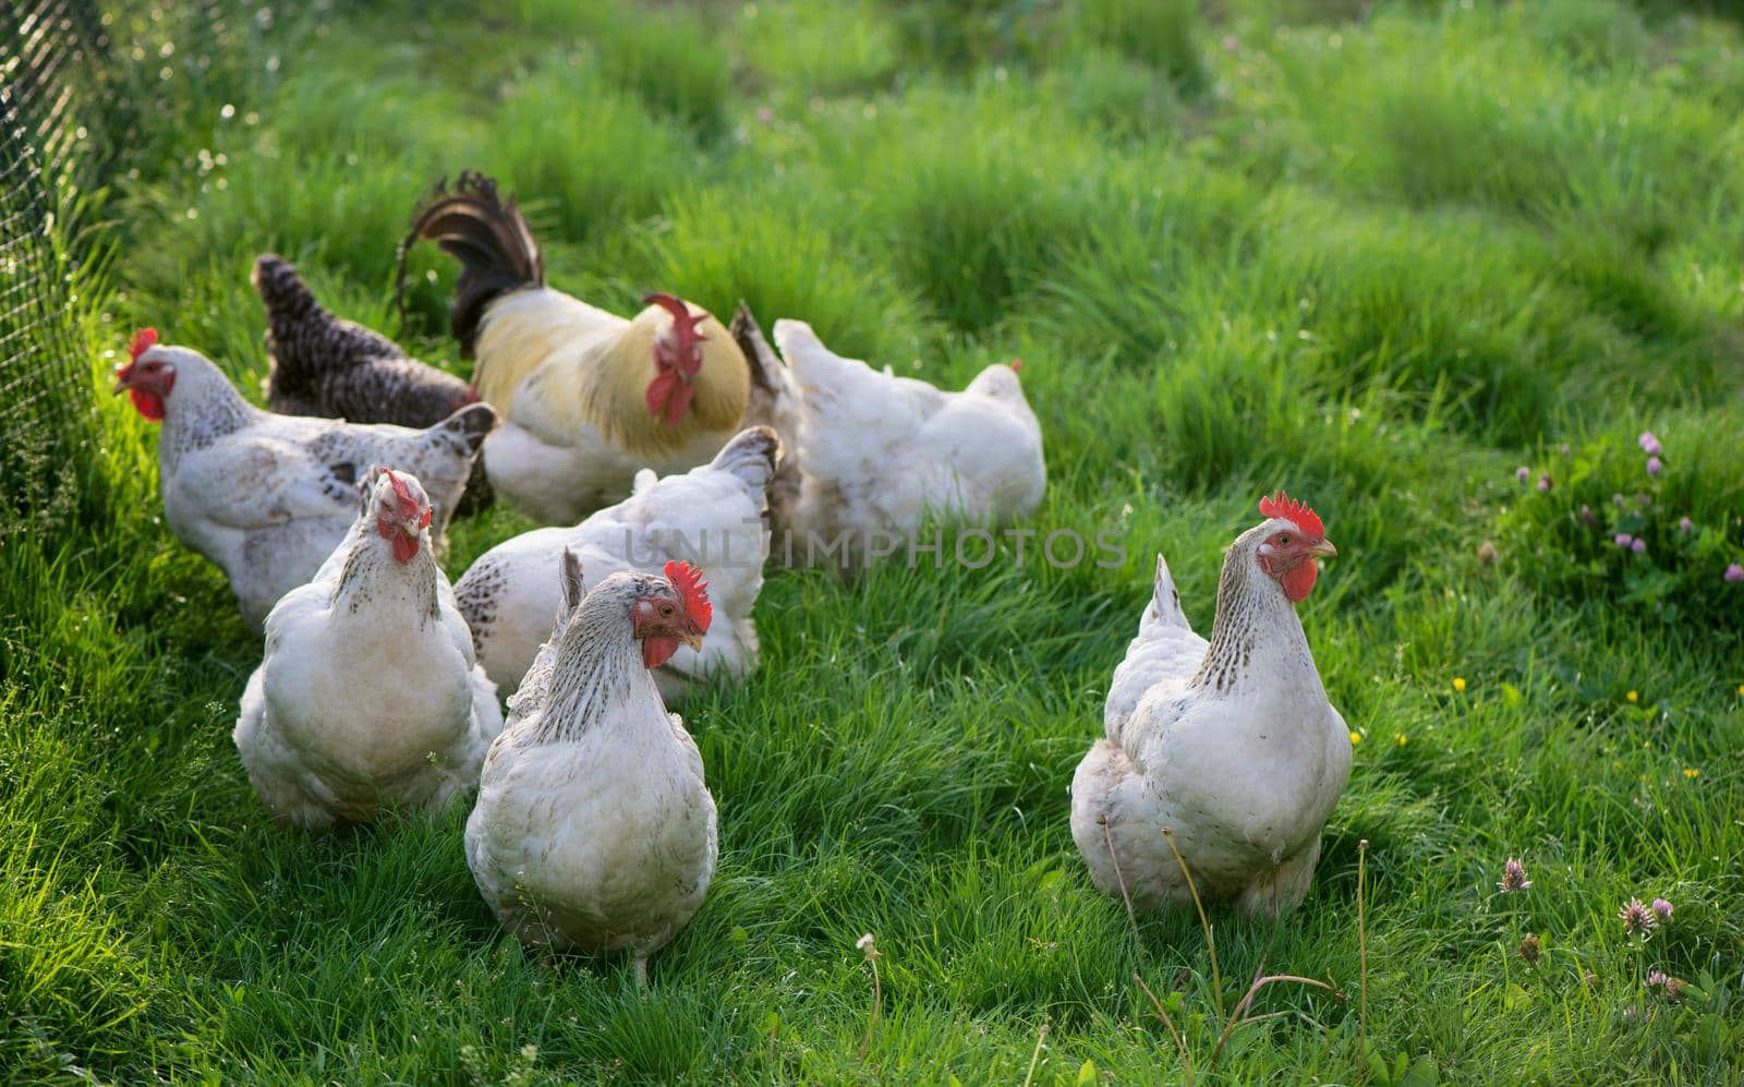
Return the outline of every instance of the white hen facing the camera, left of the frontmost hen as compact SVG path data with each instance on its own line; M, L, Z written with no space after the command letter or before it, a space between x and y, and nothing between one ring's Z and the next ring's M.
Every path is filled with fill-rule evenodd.
M478 785L502 712L429 525L415 476L371 473L345 539L267 616L232 738L281 825L439 811Z

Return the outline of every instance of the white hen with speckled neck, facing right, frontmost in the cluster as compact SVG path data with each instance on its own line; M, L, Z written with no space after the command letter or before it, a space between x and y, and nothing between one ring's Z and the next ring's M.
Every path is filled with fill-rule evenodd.
M703 904L715 874L715 801L703 757L651 668L710 621L696 567L617 572L584 593L562 557L551 640L509 700L466 824L478 890L523 944L647 960Z

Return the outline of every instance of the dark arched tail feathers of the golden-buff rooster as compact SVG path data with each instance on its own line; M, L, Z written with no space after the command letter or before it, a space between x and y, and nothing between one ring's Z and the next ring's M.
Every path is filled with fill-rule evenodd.
M412 222L399 246L394 290L401 298L406 253L420 241L434 241L460 262L450 328L466 358L473 358L478 323L497 297L523 286L544 286L544 258L532 229L514 201L497 195L497 183L478 171L464 171L452 190L446 181L439 183Z

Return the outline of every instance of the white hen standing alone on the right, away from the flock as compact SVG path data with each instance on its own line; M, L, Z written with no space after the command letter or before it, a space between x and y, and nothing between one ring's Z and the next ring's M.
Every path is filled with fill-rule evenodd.
M1278 494L1235 539L1210 642L1168 565L1114 670L1099 740L1073 776L1073 839L1090 878L1132 906L1203 899L1277 916L1308 892L1320 829L1350 775L1350 729L1327 703L1296 604L1338 551L1306 504Z

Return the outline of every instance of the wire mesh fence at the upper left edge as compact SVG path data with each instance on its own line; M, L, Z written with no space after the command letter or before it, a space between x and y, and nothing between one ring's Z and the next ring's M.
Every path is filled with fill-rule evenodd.
M94 169L80 147L78 72L105 49L89 0L0 5L0 504L44 499L89 419L73 309L78 209Z

